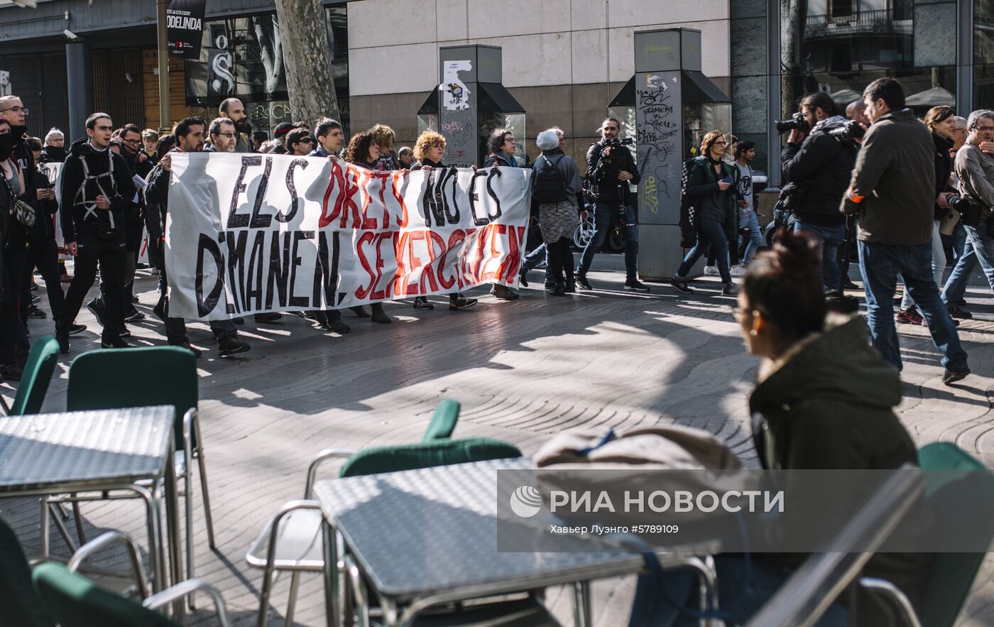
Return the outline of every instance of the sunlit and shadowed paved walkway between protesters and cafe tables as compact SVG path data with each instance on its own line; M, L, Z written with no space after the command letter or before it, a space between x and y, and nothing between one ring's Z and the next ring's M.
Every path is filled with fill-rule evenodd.
M533 287L516 302L496 301L474 290L480 304L449 312L446 299L432 298L434 311L410 303L389 304L391 325L344 315L352 333L338 337L312 329L296 316L255 326L242 334L251 351L217 358L206 325L190 325L191 341L207 349L199 362L201 423L218 540L207 546L199 499L196 534L199 577L217 585L237 624L253 624L260 571L248 568L245 552L264 521L286 501L302 496L309 460L326 447L415 442L442 398L462 403L456 435L491 436L533 453L566 428L630 429L678 423L707 429L755 464L749 439L746 395L757 360L745 353L733 320L734 299L717 296L720 284L699 280L698 294L678 295L653 285L650 294L621 290L623 274L591 272L598 289L567 298ZM154 279L138 282L139 309L148 320L130 324L133 343L161 345L161 324L151 321ZM38 292L44 295L44 291ZM964 321L960 337L974 375L962 386L941 385L942 370L927 330L902 326L906 363L905 401L900 415L923 444L954 441L994 465L994 301L979 285L968 294L977 320ZM41 303L47 309L47 300ZM83 309L79 322L99 327ZM51 333L51 321L32 320L35 337ZM99 346L99 336L74 338L62 356L44 410L65 408L70 361ZM113 393L107 382L107 393ZM11 397L3 384L0 392ZM123 529L144 543L136 503L87 504L89 538L96 530ZM39 549L38 506L29 500L0 501L3 516L30 551ZM54 547L61 539L53 531ZM113 563L115 560L111 559ZM120 560L122 562L122 560ZM275 586L271 625L282 624L289 578ZM632 578L593 584L595 624L626 624ZM321 581L304 575L296 622L322 625ZM549 602L566 623L572 596L551 590ZM207 601L201 603L206 605ZM194 612L189 624L209 625ZM958 623L994 624L994 559L988 558Z

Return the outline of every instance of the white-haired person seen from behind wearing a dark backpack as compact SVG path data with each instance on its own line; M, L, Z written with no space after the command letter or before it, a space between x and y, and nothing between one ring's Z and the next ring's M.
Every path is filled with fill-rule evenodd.
M571 246L580 226L583 182L577 162L563 152L555 129L539 133L535 144L542 154L532 168L532 200L539 205L539 227L556 282L553 296L565 296L577 291Z

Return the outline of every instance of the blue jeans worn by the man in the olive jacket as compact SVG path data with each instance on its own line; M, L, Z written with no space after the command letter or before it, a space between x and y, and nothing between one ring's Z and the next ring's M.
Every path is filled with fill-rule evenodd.
M866 286L870 335L884 359L898 370L902 369L901 347L894 323L894 292L901 274L911 299L928 325L935 348L942 353L942 366L952 371L966 369L966 351L959 345L956 328L932 277L930 241L889 245L860 240L860 271Z

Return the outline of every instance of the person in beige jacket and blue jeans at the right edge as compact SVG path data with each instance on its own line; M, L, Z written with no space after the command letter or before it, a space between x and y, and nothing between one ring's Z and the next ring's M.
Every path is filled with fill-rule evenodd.
M960 214L966 243L942 293L946 307L959 318L972 317L959 303L975 262L994 290L994 111L973 111L966 126L966 142L955 161L959 194L968 203Z

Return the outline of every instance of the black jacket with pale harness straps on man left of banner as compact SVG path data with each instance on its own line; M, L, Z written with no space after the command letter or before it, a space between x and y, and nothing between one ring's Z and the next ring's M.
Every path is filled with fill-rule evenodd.
M85 161L89 178L83 168ZM111 164L113 174L111 175ZM110 150L93 148L89 139L73 142L63 166L60 212L66 241L76 241L78 233L113 227L124 236L124 223L137 211L133 199L134 182L124 158ZM96 197L110 200L109 210L96 209Z

